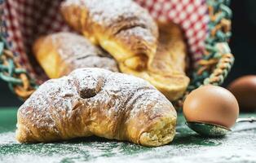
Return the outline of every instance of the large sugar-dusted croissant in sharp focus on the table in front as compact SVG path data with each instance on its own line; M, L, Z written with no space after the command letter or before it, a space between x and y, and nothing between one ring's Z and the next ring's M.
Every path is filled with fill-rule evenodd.
M97 135L145 146L170 143L177 118L169 100L147 81L102 68L46 81L17 116L20 143Z

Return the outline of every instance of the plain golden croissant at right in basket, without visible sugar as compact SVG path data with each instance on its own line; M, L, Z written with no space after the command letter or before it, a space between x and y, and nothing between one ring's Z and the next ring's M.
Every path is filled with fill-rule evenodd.
M188 87L186 76L186 43L179 26L159 23L159 42L152 63L144 71L120 65L122 73L130 73L149 81L170 100L179 99Z

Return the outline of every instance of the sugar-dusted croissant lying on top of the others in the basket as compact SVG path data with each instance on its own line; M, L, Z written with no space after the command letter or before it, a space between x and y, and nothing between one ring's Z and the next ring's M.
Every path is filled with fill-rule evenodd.
M157 51L157 24L132 0L66 0L61 12L68 24L102 46L120 65L141 70Z

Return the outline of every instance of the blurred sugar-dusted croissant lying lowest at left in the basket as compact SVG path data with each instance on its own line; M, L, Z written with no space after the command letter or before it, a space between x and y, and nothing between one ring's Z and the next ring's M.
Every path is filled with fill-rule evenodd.
M75 68L106 68L117 72L116 61L75 33L54 33L40 37L33 53L50 78L62 77Z

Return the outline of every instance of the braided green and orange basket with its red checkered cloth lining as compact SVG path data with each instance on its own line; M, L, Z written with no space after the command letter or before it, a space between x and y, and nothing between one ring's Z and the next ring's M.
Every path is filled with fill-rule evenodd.
M0 78L21 99L27 99L45 81L30 46L38 35L72 30L56 7L61 0L0 0ZM188 92L198 86L221 85L232 68L227 44L232 11L227 0L136 0L156 19L180 24L188 38L192 58ZM55 16L53 16L55 15ZM184 97L186 96L184 95ZM183 98L184 99L184 98ZM183 104L179 99L175 104Z

